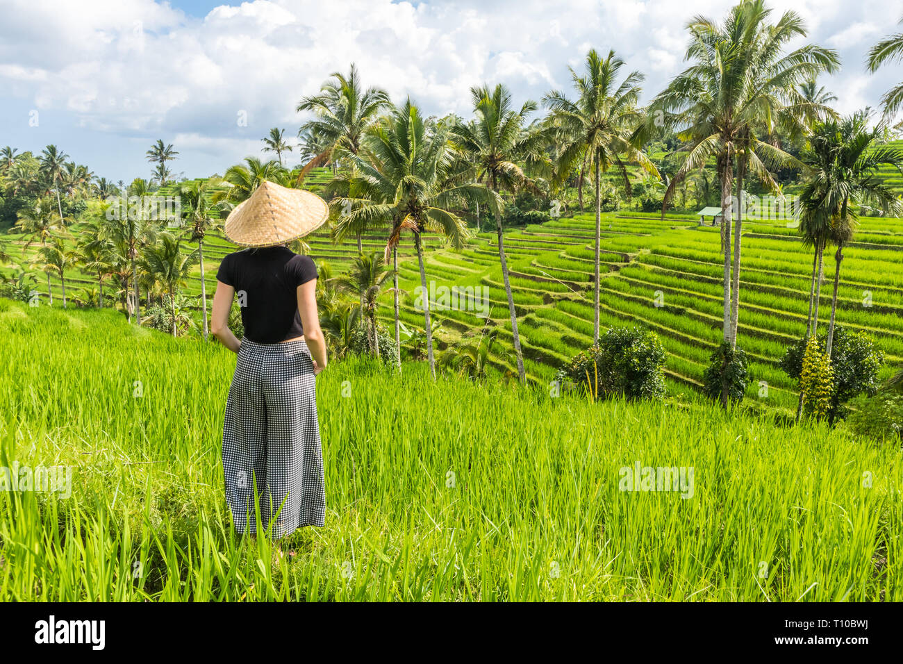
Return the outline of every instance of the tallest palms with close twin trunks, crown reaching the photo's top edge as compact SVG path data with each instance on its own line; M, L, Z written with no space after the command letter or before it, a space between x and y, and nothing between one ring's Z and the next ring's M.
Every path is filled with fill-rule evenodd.
M689 154L668 186L666 201L686 173L703 168L710 159L715 161L721 180L723 335L732 346L737 341L740 308L742 232L738 216L731 262L732 211L742 207L731 201L734 165L740 191L747 173L773 190L776 183L768 166L796 164L796 160L760 138L771 136L776 125L799 131L807 122L829 115L830 109L807 101L797 86L835 70L839 62L834 51L814 44L785 53L787 42L805 36L805 26L796 12L768 23L770 12L762 0L745 0L731 9L722 24L704 17L687 23L692 37L685 60L692 64L653 102L667 123L680 129L678 137L690 142ZM662 210L664 214L664 204ZM725 385L722 402L726 404L727 398Z

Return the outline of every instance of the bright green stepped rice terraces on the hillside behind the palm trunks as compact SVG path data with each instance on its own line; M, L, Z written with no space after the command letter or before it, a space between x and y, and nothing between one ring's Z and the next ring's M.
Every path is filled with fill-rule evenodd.
M325 171L325 169L323 169ZM328 172L322 173L328 177ZM313 183L313 182L311 182ZM551 380L574 353L591 343L592 237L590 214L549 220L506 233L506 249L518 313L518 325L528 375ZM751 362L750 399L768 407L795 407L794 385L777 367L792 341L802 336L808 308L812 255L796 229L786 224L748 221L743 240L740 293L740 346ZM73 233L79 232L75 227ZM700 227L694 218L638 212L606 213L602 223L602 281L600 321L603 327L644 325L666 345L666 370L671 387L687 390L699 384L709 355L721 339L721 270L718 229ZM23 236L6 235L14 264L2 268L10 276L28 268L34 248L22 252ZM361 238L365 251L382 252L385 234ZM357 255L355 239L332 242L329 229L307 238L311 254L338 274ZM439 238L425 238L426 276L436 288L447 286L486 295L489 324L498 326L503 341L511 342L507 299L498 267L495 233L479 233L462 251L443 248ZM235 247L221 235L205 243L208 294L216 285L219 261ZM838 322L870 332L887 354L889 366L903 365L903 221L862 218L856 241L846 249L842 269ZM830 307L833 253L825 256L822 316ZM423 313L415 306L420 285L414 245L405 238L400 253L400 286L405 291L401 317L423 327ZM67 277L69 295L96 285L93 276L73 270ZM109 287L109 286L107 286ZM40 276L38 289L46 288ZM59 280L52 279L55 298ZM434 292L434 291L433 291ZM187 295L200 295L200 267L195 267ZM55 300L58 303L59 300ZM460 299L457 308L442 308L437 332L440 347L479 332L485 323L480 302ZM867 305L868 304L868 305ZM198 303L200 307L200 302ZM437 303L433 302L433 308ZM384 295L380 316L391 321L390 295ZM497 361L498 368L511 365ZM889 371L888 369L885 369ZM759 381L768 384L768 396Z

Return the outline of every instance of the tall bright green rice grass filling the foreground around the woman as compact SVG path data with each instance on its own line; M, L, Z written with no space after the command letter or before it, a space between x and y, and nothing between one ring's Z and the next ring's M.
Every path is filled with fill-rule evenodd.
M0 465L72 467L70 498L0 491L5 601L903 599L898 446L333 363L326 527L274 560L228 522L228 351L5 301L0 349ZM634 463L693 497L619 491Z

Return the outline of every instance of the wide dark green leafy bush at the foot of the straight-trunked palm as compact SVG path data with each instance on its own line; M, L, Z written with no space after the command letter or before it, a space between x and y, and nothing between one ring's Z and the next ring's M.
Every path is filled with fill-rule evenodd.
M665 396L665 360L665 347L654 332L612 328L598 345L577 353L556 379L560 384L582 385L597 399L661 398Z

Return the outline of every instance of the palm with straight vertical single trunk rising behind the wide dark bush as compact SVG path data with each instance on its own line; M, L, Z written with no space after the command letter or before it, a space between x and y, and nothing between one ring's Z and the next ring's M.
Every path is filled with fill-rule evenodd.
M641 92L638 84L643 80L643 75L632 71L618 83L619 71L623 66L624 61L615 55L615 51L609 51L608 57L602 59L597 51L591 50L586 55L583 75L571 70L577 100L572 101L558 91L549 92L543 98L545 106L551 109L549 125L560 150L555 184L560 186L563 183L574 164L581 164L578 192L582 191L587 173L592 171L594 176L596 243L593 283L596 292L593 342L599 341L601 175L614 168L623 179L628 197L630 180L625 162L635 162L647 173L658 175L656 166L631 139L643 119L637 108Z

